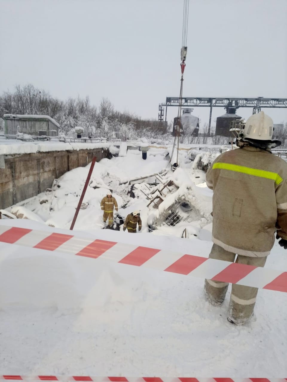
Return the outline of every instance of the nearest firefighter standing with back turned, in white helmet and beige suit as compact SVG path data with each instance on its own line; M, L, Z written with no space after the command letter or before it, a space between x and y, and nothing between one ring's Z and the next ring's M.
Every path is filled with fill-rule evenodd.
M264 267L275 241L287 249L287 163L273 155L272 119L259 112L248 118L236 148L219 155L206 173L213 189L213 246L209 255L239 264ZM228 283L205 280L204 292L214 306L223 304ZM227 319L242 325L253 316L258 288L232 285Z

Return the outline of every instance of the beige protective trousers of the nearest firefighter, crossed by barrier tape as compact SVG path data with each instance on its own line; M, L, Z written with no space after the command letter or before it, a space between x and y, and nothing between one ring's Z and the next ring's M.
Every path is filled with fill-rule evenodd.
M209 254L210 259L234 262L236 254L225 251L217 244L213 244ZM238 255L236 262L239 264L264 267L267 257L249 257ZM228 283L205 279L204 292L209 302L216 306L221 305L225 299ZM258 288L232 284L227 317L235 324L244 324L253 316Z

